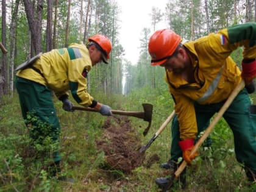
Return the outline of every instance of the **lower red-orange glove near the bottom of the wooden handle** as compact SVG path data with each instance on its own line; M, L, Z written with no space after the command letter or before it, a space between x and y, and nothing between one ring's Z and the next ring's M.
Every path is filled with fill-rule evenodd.
M183 154L182 157L183 159L188 163L188 165L191 165L191 161L198 156L197 152L194 152L193 155L191 155L191 150L194 147L194 139L188 139L188 140L183 140L179 141L180 149L182 149Z

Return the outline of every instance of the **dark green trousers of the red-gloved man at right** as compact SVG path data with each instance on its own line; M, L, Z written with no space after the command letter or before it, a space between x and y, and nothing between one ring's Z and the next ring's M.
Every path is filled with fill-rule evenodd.
M220 110L223 104L224 102L209 105L194 104L199 133L208 127L210 118ZM223 118L233 132L236 160L256 172L256 106L251 105L246 89L236 96ZM182 157L177 116L172 120L171 133L171 160L177 162L178 158Z

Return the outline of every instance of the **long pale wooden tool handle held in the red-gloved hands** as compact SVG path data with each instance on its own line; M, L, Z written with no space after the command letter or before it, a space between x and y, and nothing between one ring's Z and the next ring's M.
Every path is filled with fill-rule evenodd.
M197 141L197 143L194 145L194 148L191 150L191 155L194 154L194 152L197 151L197 149L200 148L200 146L202 145L202 143L204 143L204 141L206 140L206 138L208 137L208 135L210 134L210 132L212 132L213 127L215 127L215 125L218 123L219 119L221 119L222 115L226 112L227 108L229 108L230 104L232 104L233 100L236 98L236 96L238 95L238 93L240 93L240 91L244 88L244 80L241 80L240 84L238 84L235 88L235 90L232 91L232 93L230 94L229 98L227 99L227 101L224 103L224 105L221 107L221 109L219 110L218 114L215 116L215 118L213 119L212 123L210 123L210 125L207 127L207 129L205 130L204 134L202 135L202 137ZM185 162L185 160L183 160L182 164L179 166L179 168L177 169L177 171L175 172L175 176L179 177L180 173L185 169L185 167L187 166L187 162Z

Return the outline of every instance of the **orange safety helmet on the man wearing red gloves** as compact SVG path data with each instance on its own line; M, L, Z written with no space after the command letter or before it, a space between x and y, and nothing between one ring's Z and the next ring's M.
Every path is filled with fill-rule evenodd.
M151 65L161 65L166 62L182 38L170 29L157 30L149 38L148 51L151 55Z

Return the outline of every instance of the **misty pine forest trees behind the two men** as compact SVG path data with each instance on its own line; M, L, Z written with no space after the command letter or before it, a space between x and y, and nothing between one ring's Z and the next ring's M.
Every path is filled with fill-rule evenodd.
M146 2L145 2L146 3ZM163 70L149 65L148 40L160 21L187 40L195 40L233 24L255 21L255 0L169 1L165 10L152 7L152 27L141 32L137 63L124 60L119 43L121 10L115 1L2 0L1 43L7 54L0 57L0 95L13 91L13 68L38 52L87 43L94 34L107 35L113 44L110 65L99 65L90 74L90 88L104 93L130 93L142 87L162 89ZM127 37L135 38L135 37ZM235 58L238 64L240 58ZM126 77L125 86L122 81Z

